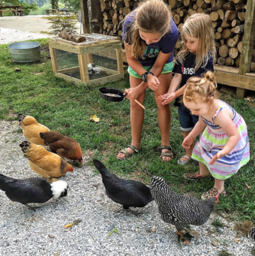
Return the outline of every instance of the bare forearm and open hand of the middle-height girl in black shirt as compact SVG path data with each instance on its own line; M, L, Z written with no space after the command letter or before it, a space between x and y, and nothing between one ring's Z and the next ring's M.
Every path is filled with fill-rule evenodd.
M162 105L169 104L178 97L176 95L176 93L177 93L176 90L179 88L179 86L181 84L181 80L182 80L182 75L179 73L175 73L175 75L171 81L168 92L164 95L158 96L158 99L162 101L162 103L161 103Z

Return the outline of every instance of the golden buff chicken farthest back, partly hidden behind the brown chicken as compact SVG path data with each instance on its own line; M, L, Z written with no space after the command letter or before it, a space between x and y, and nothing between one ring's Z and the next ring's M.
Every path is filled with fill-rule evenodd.
M34 144L45 146L44 141L40 137L39 133L50 131L49 128L38 124L35 118L31 116L25 116L20 113L18 114L18 122L22 128L24 136L28 140L30 140Z

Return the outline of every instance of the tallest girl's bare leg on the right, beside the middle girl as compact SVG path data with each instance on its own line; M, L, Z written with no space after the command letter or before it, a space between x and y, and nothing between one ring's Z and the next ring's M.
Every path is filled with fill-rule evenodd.
M158 100L158 96L166 94L168 92L171 80L172 73L161 74L158 77L160 85L158 89L155 91L155 101L157 104L157 118L159 129L161 133L161 145L169 145L169 133L170 133L170 125L171 125L171 108L170 105L162 105L162 101ZM168 149L162 149L162 152L167 151ZM162 160L170 161L171 157L163 156Z

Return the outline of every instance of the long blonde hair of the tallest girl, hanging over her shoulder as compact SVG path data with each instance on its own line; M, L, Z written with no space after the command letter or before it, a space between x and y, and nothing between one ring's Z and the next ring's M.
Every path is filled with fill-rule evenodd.
M163 0L144 0L126 16L125 20L129 16L133 17L134 21L129 25L130 29L124 39L128 36L132 57L144 59L146 45L140 37L139 30L144 33L158 33L162 37L171 30L171 9Z

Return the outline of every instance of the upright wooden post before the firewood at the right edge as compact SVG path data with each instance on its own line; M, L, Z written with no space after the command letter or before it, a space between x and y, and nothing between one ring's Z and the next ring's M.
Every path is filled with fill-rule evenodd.
M245 16L245 33L242 46L242 54L240 60L239 74L246 75L251 71L252 51L255 37L255 1L247 1L247 9ZM245 90L237 90L237 97L244 98Z

